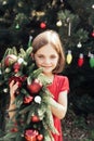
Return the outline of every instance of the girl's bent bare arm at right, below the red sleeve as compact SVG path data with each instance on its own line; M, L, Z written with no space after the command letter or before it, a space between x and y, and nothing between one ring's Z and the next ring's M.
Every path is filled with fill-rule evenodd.
M59 119L63 119L67 112L67 90L59 93L58 102L56 102L54 99L51 99L51 111L53 115Z

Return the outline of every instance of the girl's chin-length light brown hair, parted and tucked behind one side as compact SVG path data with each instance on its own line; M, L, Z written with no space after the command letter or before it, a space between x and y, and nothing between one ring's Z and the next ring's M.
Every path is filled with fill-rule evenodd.
M43 46L51 44L58 54L58 63L53 73L61 73L65 66L65 53L59 36L54 30L45 30L39 34L32 41L32 53L35 54Z

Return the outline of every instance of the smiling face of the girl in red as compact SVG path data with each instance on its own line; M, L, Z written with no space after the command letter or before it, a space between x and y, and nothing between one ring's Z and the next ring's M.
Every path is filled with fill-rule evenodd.
M46 76L52 75L53 69L57 66L58 54L50 44L43 46L35 53L35 61L38 67L43 68Z

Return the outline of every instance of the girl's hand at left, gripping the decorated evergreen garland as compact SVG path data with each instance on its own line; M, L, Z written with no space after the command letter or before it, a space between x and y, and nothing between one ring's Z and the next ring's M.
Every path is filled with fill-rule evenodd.
M15 82L14 80L12 80L10 82L10 97L11 97L11 100L15 99L15 92L16 92L17 89L18 89L18 82Z

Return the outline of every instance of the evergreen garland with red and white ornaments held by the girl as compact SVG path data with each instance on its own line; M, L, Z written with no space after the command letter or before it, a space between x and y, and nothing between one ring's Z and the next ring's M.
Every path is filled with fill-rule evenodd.
M36 67L31 50L29 46L17 53L16 48L9 48L1 61L0 91L6 101L6 113L15 112L12 119L5 119L5 128L0 134L3 141L53 141L52 133L57 133L50 110L52 95L46 89L50 80L42 74L42 68ZM16 108L9 111L12 80L18 82L18 89L14 93Z

